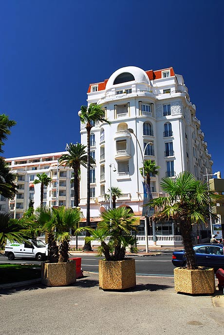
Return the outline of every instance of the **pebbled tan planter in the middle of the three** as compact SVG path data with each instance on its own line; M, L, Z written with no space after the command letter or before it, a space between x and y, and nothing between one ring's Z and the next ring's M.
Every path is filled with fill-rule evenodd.
M99 261L99 288L125 290L135 285L135 260L133 258Z

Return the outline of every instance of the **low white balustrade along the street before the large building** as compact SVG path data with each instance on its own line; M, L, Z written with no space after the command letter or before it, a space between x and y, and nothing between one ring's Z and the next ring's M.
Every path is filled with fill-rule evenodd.
M140 246L146 246L146 236L144 235L137 235L137 244L138 247ZM41 239L43 242L45 242L45 236L40 236L38 237L39 239ZM108 238L109 239L109 238ZM182 246L182 236L180 235L157 235L156 236L156 245L164 245L164 246ZM106 239L107 241L107 239ZM85 236L78 236L78 247L83 247L85 244ZM155 245L154 241L153 241L153 236L148 236L148 244L149 245ZM71 236L70 239L70 246L75 247L76 245L76 237L75 236ZM100 245L99 241L93 241L92 245L94 246L98 246Z

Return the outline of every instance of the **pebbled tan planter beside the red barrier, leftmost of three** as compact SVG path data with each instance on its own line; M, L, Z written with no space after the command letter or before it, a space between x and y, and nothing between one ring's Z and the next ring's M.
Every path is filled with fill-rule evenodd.
M45 286L66 286L76 281L75 260L67 263L42 262L41 282Z

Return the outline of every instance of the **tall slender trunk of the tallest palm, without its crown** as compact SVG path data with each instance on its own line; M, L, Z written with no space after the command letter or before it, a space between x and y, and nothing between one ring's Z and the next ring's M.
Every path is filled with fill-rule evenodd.
M86 125L87 130L87 204L86 204L86 226L90 227L90 131L92 126ZM90 232L86 232L86 236L90 236ZM91 242L86 242L83 247L84 251L92 251Z

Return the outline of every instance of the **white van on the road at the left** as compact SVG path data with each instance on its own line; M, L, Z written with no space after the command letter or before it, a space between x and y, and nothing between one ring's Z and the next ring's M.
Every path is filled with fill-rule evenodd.
M36 260L41 261L46 257L46 244L40 239L25 240L22 244L7 242L4 255L9 260L19 257L36 258Z

